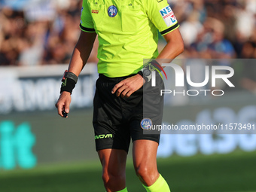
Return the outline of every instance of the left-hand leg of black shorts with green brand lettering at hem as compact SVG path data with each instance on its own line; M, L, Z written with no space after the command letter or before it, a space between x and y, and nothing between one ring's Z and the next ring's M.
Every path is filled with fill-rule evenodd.
M116 82L109 78L101 77L96 81L96 93L93 100L96 151L113 148L128 152L130 130L123 123L120 99L111 93L114 84Z

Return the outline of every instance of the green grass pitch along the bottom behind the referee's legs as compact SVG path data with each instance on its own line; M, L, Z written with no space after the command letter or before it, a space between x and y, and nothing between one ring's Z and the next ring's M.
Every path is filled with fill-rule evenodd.
M158 168L172 192L256 191L256 152L159 159ZM127 162L130 192L145 191ZM1 192L104 192L97 162L44 165L31 170L0 169Z

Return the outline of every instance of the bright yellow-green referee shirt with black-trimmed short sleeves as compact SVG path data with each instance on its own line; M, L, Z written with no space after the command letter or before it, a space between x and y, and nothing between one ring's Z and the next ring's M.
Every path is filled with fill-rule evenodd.
M99 39L98 72L109 78L136 74L158 55L161 35L178 28L166 0L84 0L80 28Z

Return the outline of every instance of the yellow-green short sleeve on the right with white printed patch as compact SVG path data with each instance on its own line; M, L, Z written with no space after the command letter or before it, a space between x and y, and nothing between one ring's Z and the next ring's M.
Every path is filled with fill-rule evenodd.
M178 21L167 0L145 0L148 18L157 27L161 35L178 28Z

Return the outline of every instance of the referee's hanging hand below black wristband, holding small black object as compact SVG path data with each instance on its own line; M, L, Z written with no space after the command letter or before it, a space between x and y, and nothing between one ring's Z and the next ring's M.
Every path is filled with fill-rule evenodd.
M58 114L61 117L64 117L64 115L62 114L62 111L65 111L67 114L69 113L70 103L71 103L71 94L69 92L63 91L60 94L59 99L55 104L55 107L58 109Z

